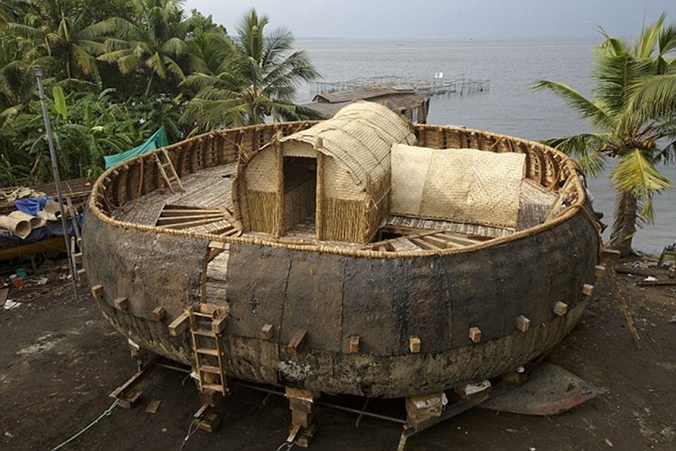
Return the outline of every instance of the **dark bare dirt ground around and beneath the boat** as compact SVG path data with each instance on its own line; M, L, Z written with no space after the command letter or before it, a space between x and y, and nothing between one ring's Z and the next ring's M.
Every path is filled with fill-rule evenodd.
M59 265L61 269L59 269ZM5 275L13 268L5 266ZM0 308L0 448L51 449L107 410L109 393L135 371L126 340L97 310L88 288L75 300L69 281L37 285L67 272L45 264L21 289L18 304ZM665 271L658 272L667 279ZM409 450L676 449L676 286L641 287L644 276L618 274L641 338L636 349L607 277L597 282L588 313L547 357L607 389L607 394L553 417L473 409L408 440ZM131 410L115 408L61 449L276 450L288 434L290 411L280 396L232 384L222 424L187 437L199 408L185 373L154 367L138 385ZM156 413L146 412L160 400ZM325 402L359 408L363 399ZM403 400L371 400L370 409L403 418ZM311 449L394 450L401 425L320 406ZM286 446L281 447L286 449Z

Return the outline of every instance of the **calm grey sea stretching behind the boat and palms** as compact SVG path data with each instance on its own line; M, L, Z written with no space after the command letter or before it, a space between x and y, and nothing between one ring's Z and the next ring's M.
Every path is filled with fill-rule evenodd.
M529 140L568 136L591 131L565 103L552 93L534 91L540 79L563 81L585 96L592 86L593 51L596 41L356 41L348 39L299 39L298 49L322 75L323 82L355 78L405 77L434 80L487 79L489 89L470 94L432 97L428 124L452 124L518 136ZM316 85L299 87L297 101L312 100ZM608 167L589 179L594 209L613 221L617 198ZM676 165L660 167L676 184ZM635 250L659 254L676 243L676 191L668 190L653 201L653 226L640 229Z

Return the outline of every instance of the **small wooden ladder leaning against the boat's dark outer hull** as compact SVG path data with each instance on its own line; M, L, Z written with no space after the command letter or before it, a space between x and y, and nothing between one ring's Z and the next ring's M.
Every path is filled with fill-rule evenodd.
M199 390L218 391L225 395L228 387L221 348L221 333L225 326L224 312L213 304L201 304L198 310L190 308L187 311Z

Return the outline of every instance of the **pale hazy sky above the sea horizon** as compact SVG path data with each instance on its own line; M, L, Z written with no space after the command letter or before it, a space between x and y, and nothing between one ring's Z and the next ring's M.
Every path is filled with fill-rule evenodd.
M255 8L297 38L529 40L631 38L675 0L187 0L230 34ZM189 13L188 13L189 14Z

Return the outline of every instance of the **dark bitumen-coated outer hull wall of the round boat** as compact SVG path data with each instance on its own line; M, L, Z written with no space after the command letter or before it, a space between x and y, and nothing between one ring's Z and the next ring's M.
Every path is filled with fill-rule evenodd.
M110 323L151 352L194 364L189 334L170 336L168 322L199 303L210 240L123 227L88 211L83 242L87 278L104 287L97 303ZM583 286L594 283L598 245L582 209L458 253L379 257L233 240L224 369L249 381L387 398L495 377L571 331L589 299ZM114 308L120 297L126 310ZM554 313L557 302L565 314ZM158 307L163 321L152 318ZM516 328L518 317L528 318L527 330ZM265 325L271 338L261 336ZM470 327L480 328L479 342ZM288 353L298 331L305 344Z

